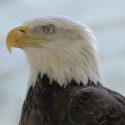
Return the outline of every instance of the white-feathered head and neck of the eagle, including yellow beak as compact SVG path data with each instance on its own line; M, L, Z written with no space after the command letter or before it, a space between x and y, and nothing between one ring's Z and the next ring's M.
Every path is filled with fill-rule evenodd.
M21 48L30 64L30 84L46 74L60 86L71 80L86 85L100 82L96 39L91 30L63 16L26 21L7 35L7 48Z

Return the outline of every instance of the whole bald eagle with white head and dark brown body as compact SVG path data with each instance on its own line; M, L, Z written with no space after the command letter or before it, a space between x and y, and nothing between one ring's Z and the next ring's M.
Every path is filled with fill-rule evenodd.
M125 125L125 98L101 83L96 38L79 22L47 16L7 35L21 48L30 80L19 125Z

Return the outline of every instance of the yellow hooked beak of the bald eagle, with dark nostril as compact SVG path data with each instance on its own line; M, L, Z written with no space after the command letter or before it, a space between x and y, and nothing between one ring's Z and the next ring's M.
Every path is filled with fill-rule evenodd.
M12 29L6 38L6 45L8 51L11 53L12 47L22 48L24 41L28 39L27 33L30 31L30 28L27 26L20 26Z

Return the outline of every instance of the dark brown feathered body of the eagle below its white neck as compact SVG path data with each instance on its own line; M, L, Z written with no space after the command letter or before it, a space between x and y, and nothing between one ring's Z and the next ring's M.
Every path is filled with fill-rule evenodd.
M19 125L125 125L125 98L91 81L60 87L37 78L25 99Z

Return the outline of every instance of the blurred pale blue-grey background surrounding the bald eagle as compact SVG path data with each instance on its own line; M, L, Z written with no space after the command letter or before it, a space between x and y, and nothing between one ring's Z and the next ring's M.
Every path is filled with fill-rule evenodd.
M99 41L103 84L125 95L125 0L0 0L0 125L18 124L29 74L23 51L7 52L6 34L44 15L87 24Z

